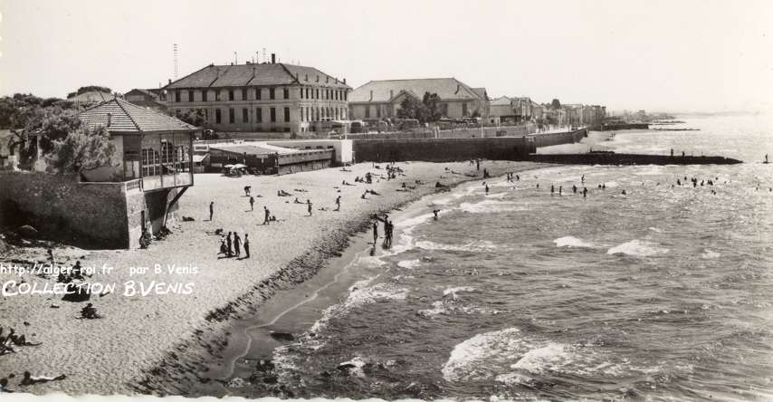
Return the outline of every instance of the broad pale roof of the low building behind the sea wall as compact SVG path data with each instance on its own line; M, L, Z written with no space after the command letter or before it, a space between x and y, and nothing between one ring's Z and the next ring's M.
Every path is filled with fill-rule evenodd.
M373 93L372 98L371 91ZM422 99L425 92L437 93L437 96L445 101L477 101L481 99L477 92L455 78L425 78L417 80L370 81L352 91L349 94L348 101L386 102L400 91L412 93L418 99Z

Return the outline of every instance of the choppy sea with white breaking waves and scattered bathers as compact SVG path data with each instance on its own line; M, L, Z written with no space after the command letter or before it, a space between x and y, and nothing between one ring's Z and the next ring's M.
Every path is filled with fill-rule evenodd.
M273 349L276 379L296 397L773 398L773 125L678 119L701 130L594 148L745 163L543 168L425 197Z

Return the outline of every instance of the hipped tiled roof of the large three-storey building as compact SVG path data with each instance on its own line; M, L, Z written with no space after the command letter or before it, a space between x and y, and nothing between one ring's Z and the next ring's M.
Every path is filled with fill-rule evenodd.
M317 77L320 81L317 81ZM308 81L306 78L308 77ZM313 67L284 63L208 65L186 77L167 85L165 89L222 88L245 85L290 85L320 84L329 87L350 89L350 87Z

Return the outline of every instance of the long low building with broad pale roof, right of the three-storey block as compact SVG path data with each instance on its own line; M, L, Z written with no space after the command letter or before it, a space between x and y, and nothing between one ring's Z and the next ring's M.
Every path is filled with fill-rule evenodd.
M352 120L395 118L406 98L422 101L425 93L436 93L446 118L482 116L489 113L485 88L472 88L455 78L369 81L351 92L348 100Z

